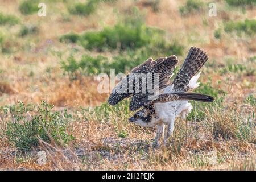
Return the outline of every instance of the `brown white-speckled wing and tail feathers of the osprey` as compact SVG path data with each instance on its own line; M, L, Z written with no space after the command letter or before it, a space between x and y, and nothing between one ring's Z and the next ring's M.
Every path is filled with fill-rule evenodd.
M152 73L152 84L154 84L154 74L158 73L159 90L161 90L166 86L170 85L170 77L172 71L174 71L178 63L178 60L175 55L169 57L160 57L155 61L150 57L143 64L138 65L137 67L132 69L131 72L125 78L123 78L121 82L117 84L112 94L110 94L108 102L110 105L115 105L124 98L132 96L129 109L131 111L135 111L140 107L145 105L147 106L147 104L153 102L170 102L175 100L185 100L184 98L187 98L187 100L196 100L198 98L195 98L191 95L186 96L186 94L184 93L188 90L187 85L189 83L189 80L191 80L191 78L195 76L195 74L199 71L199 69L204 65L204 63L207 60L207 53L205 53L200 48L191 47L183 63L183 66L181 67L180 71L177 73L177 76L174 78L174 81L172 82L172 85L174 85L173 92L180 92L180 94L159 94L157 98L152 100L149 98L149 96L151 96L154 93L148 93L148 89L146 89L146 93L141 92L142 88L147 88L148 85L143 85L143 81L141 81L139 85L135 85L135 80L138 77L140 77L140 74ZM133 93L129 93L128 85L133 86ZM120 93L120 90L125 90L125 93ZM140 92L135 93L135 90L139 90ZM203 99L199 101L209 102L212 101L212 99L213 98L209 98L208 100L208 98L203 97Z

